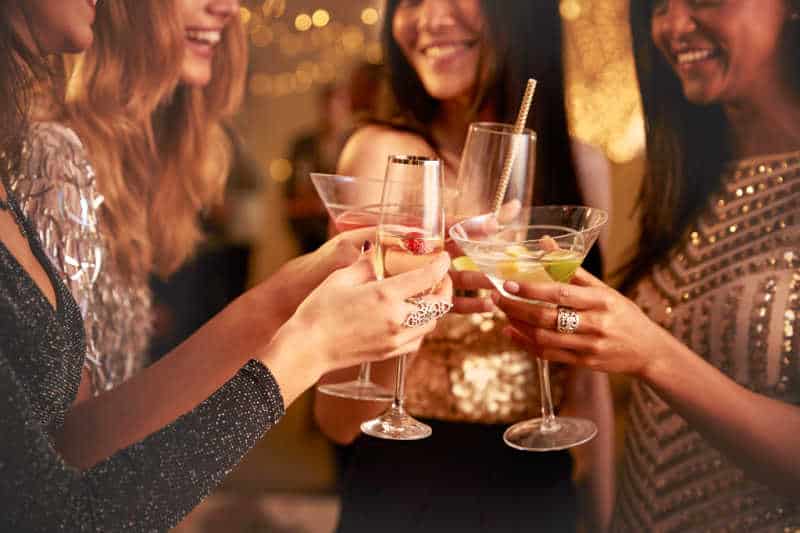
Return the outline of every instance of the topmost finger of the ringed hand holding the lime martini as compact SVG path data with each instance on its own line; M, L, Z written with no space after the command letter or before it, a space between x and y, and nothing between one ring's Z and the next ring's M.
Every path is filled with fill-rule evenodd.
M580 287L567 283L515 283L508 281L503 288L515 296L527 300L550 303L561 307L571 307L578 311L584 309L606 309L610 305L609 296L605 288L600 287ZM501 298L498 304L501 309L520 309L524 305L531 305L525 302L512 301L508 298Z

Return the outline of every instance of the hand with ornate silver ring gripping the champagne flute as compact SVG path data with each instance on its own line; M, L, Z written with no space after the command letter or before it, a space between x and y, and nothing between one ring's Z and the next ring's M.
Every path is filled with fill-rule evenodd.
M331 274L284 328L296 336L296 343L309 347L307 353L317 359L309 364L318 365L319 375L416 351L436 321L415 328L404 326L406 317L417 310L406 300L432 287L436 287L435 293L425 300L451 300L447 254L440 254L423 268L383 281L375 281L372 256L364 254L353 265Z

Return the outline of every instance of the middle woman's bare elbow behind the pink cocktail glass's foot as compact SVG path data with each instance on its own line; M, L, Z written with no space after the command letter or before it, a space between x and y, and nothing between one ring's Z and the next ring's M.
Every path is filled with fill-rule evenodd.
M373 363L370 381L393 390L397 359ZM321 383L337 383L354 380L358 368L349 368L325 375ZM361 402L315 393L314 418L326 437L337 444L352 444L361 431L361 423L374 418L386 410L384 402Z

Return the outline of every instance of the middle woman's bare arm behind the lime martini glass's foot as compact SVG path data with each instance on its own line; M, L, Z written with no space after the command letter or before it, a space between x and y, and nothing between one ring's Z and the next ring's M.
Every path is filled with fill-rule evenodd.
M570 413L592 420L597 436L573 448L575 483L587 531L606 531L614 506L614 404L608 375L576 368L569 382Z

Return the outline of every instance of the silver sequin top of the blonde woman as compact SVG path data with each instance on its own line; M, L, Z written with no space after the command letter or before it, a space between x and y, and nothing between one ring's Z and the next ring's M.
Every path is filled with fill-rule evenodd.
M93 392L119 385L147 362L151 294L147 276L123 277L108 253L103 197L80 139L58 123L34 124L9 182L81 309Z

